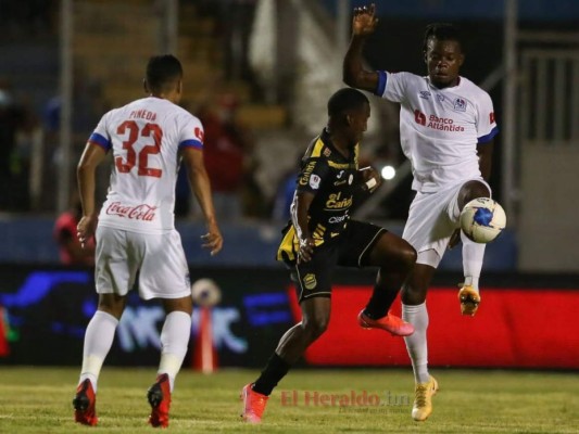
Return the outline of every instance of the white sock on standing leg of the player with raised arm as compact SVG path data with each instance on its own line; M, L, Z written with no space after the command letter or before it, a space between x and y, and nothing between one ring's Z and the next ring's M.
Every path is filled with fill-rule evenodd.
M428 373L428 345L426 343L426 329L428 329L426 302L416 306L403 304L402 319L414 326L414 333L404 337L412 360L414 381L427 383L430 375Z

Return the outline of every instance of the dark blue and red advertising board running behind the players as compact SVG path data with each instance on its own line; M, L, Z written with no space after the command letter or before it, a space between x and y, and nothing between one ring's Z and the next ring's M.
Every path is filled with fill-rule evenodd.
M281 333L299 319L286 270L191 268L191 281L201 278L213 279L223 292L213 310L219 366L262 367ZM437 277L428 297L432 366L579 369L579 335L572 333L579 276L488 273L476 318L460 315L460 278L455 272ZM356 326L373 281L370 271L337 273L328 332L307 350L303 366L410 366L401 339ZM0 365L79 365L84 331L96 309L92 270L3 265L0 282ZM162 318L158 303L143 303L134 293L108 363L156 365Z

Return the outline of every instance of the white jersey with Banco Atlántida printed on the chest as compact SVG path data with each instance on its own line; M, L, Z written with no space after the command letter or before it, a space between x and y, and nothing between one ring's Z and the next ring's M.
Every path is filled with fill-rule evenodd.
M464 77L455 87L438 89L411 73L378 75L376 94L401 104L400 139L412 163L413 190L432 192L481 176L477 144L499 131L486 91Z

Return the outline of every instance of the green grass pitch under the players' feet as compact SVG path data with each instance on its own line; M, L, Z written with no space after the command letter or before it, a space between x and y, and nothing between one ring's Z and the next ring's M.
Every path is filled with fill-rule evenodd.
M293 370L269 398L263 423L247 425L239 417L239 391L256 374L182 370L167 432L579 433L579 373L432 370L441 388L432 416L417 423L411 419L410 368ZM0 433L150 432L146 392L154 375L153 368L105 366L99 425L88 427L73 421L78 369L0 367ZM358 401L348 403L352 396Z

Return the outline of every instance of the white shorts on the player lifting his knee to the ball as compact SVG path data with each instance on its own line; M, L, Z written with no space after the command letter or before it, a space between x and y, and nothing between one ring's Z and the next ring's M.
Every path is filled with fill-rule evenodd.
M482 182L492 191L481 178L474 178L432 193L416 193L402 233L418 253L416 263L438 267L452 233L461 226L458 193L469 181Z

